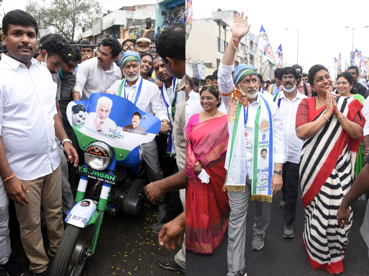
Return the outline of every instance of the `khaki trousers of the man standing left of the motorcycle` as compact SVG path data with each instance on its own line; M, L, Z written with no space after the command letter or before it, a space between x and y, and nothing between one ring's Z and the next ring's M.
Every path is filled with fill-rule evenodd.
M29 190L25 193L29 203L24 206L15 204L21 240L24 251L31 262L30 270L41 273L47 269L49 263L41 233L41 206L52 252L56 252L64 233L61 166L59 165L55 171L46 176L22 181Z

